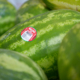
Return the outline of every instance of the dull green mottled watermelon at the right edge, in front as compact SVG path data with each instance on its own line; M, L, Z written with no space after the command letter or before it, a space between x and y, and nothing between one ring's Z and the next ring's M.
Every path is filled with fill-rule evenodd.
M80 23L64 37L58 55L60 80L80 80Z

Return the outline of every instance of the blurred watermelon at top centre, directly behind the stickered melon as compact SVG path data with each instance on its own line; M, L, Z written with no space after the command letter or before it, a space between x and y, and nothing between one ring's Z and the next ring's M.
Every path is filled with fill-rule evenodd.
M49 11L40 0L28 0L17 11L16 23Z

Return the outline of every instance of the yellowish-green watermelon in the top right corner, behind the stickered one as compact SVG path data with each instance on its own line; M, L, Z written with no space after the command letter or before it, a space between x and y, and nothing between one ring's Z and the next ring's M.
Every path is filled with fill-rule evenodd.
M80 0L43 0L50 9L72 9L80 11Z

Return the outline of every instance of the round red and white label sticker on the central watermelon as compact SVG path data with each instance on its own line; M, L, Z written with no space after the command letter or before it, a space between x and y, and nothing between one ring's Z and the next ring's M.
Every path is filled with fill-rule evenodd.
M21 37L25 41L32 41L36 38L37 32L33 27L27 27L22 30Z

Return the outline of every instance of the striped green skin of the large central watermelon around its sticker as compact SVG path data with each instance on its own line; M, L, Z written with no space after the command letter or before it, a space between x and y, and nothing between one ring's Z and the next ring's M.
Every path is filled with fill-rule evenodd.
M0 48L18 51L33 59L45 71L49 80L58 80L57 57L65 34L80 22L80 13L73 10L53 10L16 25L0 38ZM26 42L21 31L33 27L37 36Z

